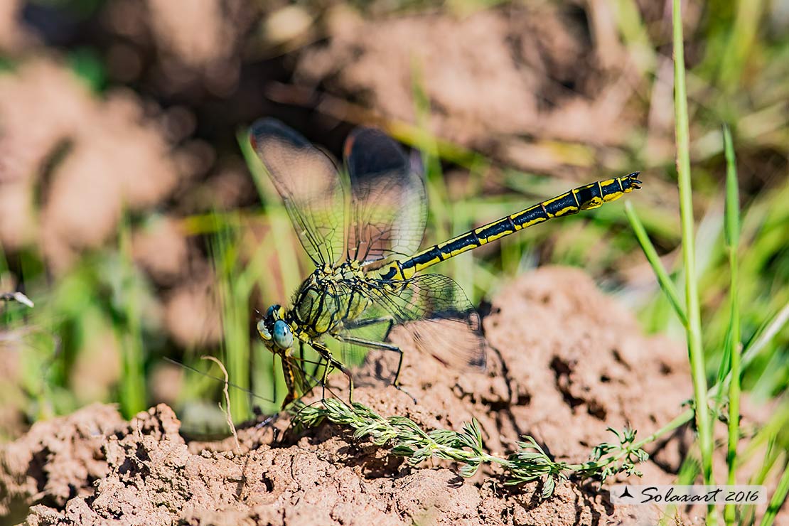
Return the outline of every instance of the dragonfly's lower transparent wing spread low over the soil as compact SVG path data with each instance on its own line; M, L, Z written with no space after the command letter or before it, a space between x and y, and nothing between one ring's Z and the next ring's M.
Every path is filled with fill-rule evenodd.
M441 274L424 274L403 282L370 279L367 283L370 286L365 287L365 295L372 300L372 307L365 311L365 319L389 318L394 324L407 326L415 345L447 367L484 369L480 315L454 280ZM346 334L359 334L360 322L365 319L346 320ZM367 327L365 330L382 330L382 326ZM383 326L386 334L387 328Z

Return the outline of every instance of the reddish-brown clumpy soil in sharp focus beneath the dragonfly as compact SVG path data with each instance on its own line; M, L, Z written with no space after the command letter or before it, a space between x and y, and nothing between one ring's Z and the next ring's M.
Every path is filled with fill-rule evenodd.
M529 434L557 459L584 461L611 437L605 427L651 432L690 397L684 353L646 338L634 316L578 270L546 268L512 283L484 319L491 348L484 373L451 371L409 348L402 383L358 387L384 416L459 429L477 418L489 450L514 450ZM335 384L341 385L341 379ZM346 393L340 393L346 396ZM38 423L2 449L0 494L33 505L28 524L600 524L625 521L594 484L503 486L490 469L464 480L449 464L413 468L330 424L294 435L248 428L240 444L185 443L166 405L123 423L92 406ZM287 426L283 418L277 424ZM662 450L682 446L678 433ZM662 453L661 453L662 454ZM679 457L643 466L671 479ZM6 499L7 500L7 499ZM9 502L2 502L8 509Z

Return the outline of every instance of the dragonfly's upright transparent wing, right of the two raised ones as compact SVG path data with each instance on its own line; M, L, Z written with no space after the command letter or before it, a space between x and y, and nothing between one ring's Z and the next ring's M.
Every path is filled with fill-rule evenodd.
M427 222L420 170L378 129L355 130L346 140L350 177L347 258L372 263L417 252Z

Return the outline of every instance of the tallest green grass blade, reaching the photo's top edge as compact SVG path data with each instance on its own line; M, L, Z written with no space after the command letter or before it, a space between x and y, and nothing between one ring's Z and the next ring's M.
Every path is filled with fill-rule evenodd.
M694 246L693 189L690 181L690 126L688 125L687 91L685 83L685 48L682 43L682 2L674 0L672 9L674 43L674 110L679 178L679 215L682 225L682 259L685 267L685 297L688 315L687 343L690 370L693 376L694 399L701 466L705 484L712 478L712 422L707 407L707 378L705 356L701 344L701 308L696 276ZM708 520L713 520L715 507L709 506Z

